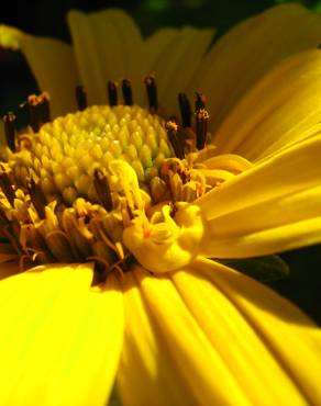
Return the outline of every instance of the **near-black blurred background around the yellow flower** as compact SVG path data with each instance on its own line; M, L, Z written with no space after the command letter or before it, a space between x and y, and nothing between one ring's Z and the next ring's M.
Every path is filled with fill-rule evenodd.
M164 25L215 26L219 35L241 20L283 0L30 0L8 1L1 8L0 23L36 35L69 41L65 15L70 9L93 11L107 7L126 10L143 34ZM298 1L321 12L321 0ZM321 38L320 38L321 40ZM0 49L0 114L36 91L36 83L19 53ZM320 157L321 159L321 157ZM321 246L308 247L281 256L290 267L288 278L269 282L321 324Z

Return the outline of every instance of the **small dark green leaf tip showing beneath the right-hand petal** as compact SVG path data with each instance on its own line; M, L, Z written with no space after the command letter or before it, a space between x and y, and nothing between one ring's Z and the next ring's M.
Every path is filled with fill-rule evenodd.
M261 282L270 282L287 278L288 264L278 256L267 256L245 259L223 259L215 261L235 269Z

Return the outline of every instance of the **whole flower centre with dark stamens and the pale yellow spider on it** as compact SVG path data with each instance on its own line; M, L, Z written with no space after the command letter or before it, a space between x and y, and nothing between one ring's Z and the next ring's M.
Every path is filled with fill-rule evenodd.
M80 111L53 122L48 97L30 97L31 127L16 140L14 116L4 117L0 226L22 266L95 261L104 278L135 260L166 272L197 256L204 221L192 202L250 162L206 147L209 116L199 94L192 131L185 94L181 125L176 117L165 123L155 114L154 79L146 88L150 111L133 104L129 81L124 105L113 82L110 105L86 108L79 87Z

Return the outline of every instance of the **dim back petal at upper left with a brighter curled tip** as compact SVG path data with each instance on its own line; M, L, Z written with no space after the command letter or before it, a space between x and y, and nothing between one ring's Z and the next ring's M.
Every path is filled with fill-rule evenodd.
M52 117L75 111L78 71L69 45L5 25L0 26L0 45L23 53L41 90L51 94Z

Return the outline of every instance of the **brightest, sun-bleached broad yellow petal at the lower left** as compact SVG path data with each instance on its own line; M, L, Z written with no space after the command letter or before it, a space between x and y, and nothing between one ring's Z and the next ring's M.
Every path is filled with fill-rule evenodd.
M90 291L90 266L48 266L1 291L1 405L104 405L122 342L115 280Z

